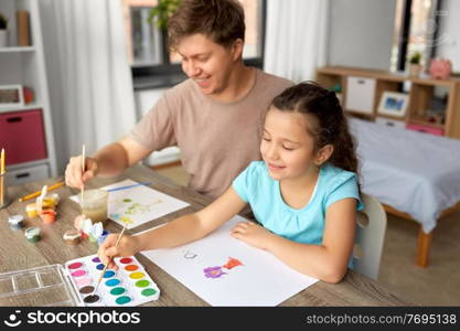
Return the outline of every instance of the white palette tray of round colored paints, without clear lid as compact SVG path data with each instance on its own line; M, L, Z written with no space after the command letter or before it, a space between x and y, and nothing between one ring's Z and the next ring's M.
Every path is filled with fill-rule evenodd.
M104 264L97 255L64 266L85 306L139 306L160 297L160 289L136 257L115 258L118 270L107 269L95 293Z

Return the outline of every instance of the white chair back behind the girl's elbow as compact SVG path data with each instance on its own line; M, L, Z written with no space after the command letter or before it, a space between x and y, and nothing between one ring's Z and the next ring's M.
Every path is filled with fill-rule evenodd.
M374 196L362 193L364 210L357 212L356 239L353 248L353 269L377 279L386 232L386 213Z

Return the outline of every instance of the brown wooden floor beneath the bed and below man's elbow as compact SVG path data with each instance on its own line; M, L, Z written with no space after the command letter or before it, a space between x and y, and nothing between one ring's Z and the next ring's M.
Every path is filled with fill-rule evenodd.
M156 171L182 185L189 181L178 164ZM415 265L418 223L387 215L378 280L422 306L460 306L460 211L442 218L435 228L427 268Z

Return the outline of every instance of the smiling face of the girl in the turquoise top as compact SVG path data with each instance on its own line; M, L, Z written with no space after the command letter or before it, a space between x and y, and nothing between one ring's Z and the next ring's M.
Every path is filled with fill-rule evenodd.
M296 179L314 166L314 140L308 116L271 107L265 118L260 152L274 180Z

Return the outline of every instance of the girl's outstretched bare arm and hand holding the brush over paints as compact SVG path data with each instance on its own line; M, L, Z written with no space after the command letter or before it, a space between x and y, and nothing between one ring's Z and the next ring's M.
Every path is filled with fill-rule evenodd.
M196 241L220 227L240 212L245 205L246 203L231 186L217 200L201 211L175 218L161 227L138 236L126 235L120 239L117 247L115 247L115 243L118 235L108 236L99 247L99 258L106 264L110 257L132 256L141 250L174 247ZM109 267L116 266L110 264Z

